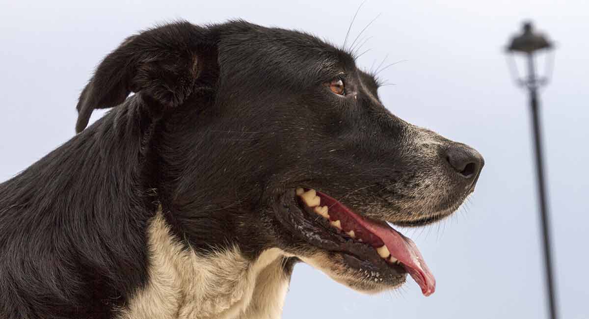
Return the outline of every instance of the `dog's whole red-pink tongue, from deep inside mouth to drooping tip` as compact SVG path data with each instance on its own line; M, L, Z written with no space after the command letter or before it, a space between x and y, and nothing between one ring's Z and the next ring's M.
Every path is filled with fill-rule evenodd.
M419 252L417 246L411 239L401 235L398 231L393 230L389 225L381 225L366 220L329 195L323 194L322 192L317 192L317 195L321 198L321 205L327 205L329 207L330 214L332 211L334 215L345 213L348 217L351 217L356 224L359 224L373 235L379 237L386 245L389 252L391 252L392 257L396 258L396 260L403 264L405 270L411 275L411 277L413 277L413 280L415 280L419 287L421 287L423 295L428 296L434 293L436 290L436 280L434 275L429 271L428 265L425 264L421 252ZM338 217L341 218L342 216Z

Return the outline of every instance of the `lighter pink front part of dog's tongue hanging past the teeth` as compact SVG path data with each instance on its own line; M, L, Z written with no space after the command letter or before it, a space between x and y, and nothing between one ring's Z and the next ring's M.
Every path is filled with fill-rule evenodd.
M391 255L401 262L405 270L413 277L413 280L415 280L419 287L421 287L423 295L428 296L434 293L436 290L434 274L429 271L421 252L419 252L417 246L411 239L393 230L388 225L379 225L366 221L364 218L359 222L385 243Z

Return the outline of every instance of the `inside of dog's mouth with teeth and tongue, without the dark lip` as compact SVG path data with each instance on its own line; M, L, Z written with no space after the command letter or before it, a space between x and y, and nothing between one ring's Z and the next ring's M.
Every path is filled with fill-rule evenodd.
M374 248L389 265L401 265L419 284L424 295L435 291L435 278L425 264L421 253L409 238L386 223L370 221L356 214L329 195L313 189L297 188L296 195L307 212L329 220L338 234Z

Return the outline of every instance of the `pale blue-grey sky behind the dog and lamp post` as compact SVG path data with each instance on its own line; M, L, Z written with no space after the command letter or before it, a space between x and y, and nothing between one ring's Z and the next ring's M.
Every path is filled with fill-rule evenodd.
M0 0L0 181L74 136L78 95L125 37L154 24L244 18L343 44L360 1ZM509 74L504 46L531 19L556 44L541 92L555 278L561 318L589 310L589 2L368 0L350 31L370 49L358 64L390 84L393 114L465 142L485 157L477 190L448 220L399 229L437 280L423 297L363 295L312 267L295 267L283 318L547 318L527 95ZM369 38L368 38L369 37ZM92 121L104 112L94 112Z

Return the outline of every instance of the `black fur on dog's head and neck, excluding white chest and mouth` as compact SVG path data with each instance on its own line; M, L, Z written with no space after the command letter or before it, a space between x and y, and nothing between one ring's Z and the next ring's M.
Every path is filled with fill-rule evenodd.
M349 97L323 85L337 77ZM158 204L198 253L252 259L308 245L272 209L294 187L392 222L445 217L474 187L446 161L455 143L391 115L377 89L301 32L177 22L127 38L82 91L80 134L0 184L0 317L114 316L148 281ZM96 108L113 109L85 128Z

